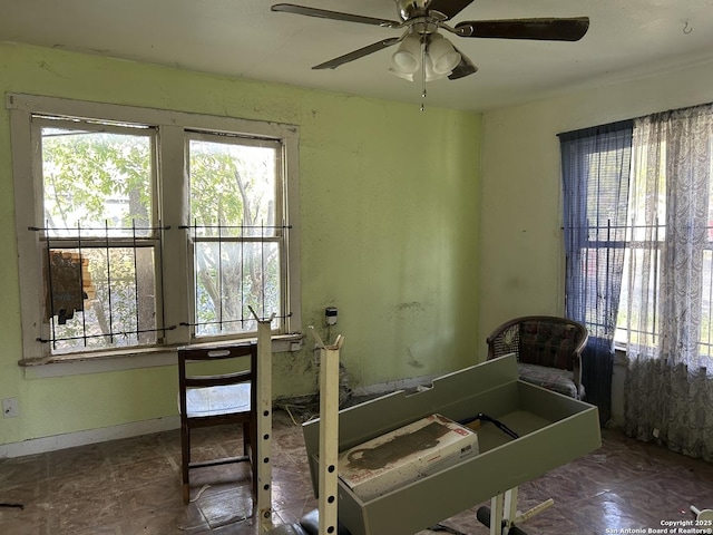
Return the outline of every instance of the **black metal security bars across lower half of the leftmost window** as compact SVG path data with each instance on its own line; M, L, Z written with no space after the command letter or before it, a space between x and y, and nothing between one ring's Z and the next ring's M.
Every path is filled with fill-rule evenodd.
M29 227L45 241L45 318L52 353L163 341L163 232L168 226ZM147 237L148 236L148 237Z

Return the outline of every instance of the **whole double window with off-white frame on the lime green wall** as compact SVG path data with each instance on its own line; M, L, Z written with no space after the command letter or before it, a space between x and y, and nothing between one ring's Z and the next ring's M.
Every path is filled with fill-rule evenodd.
M300 330L296 129L10 95L25 359Z

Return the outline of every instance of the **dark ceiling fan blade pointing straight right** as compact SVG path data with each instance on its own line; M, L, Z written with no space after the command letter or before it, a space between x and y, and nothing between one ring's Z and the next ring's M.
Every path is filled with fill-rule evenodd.
M589 29L588 17L569 19L471 20L456 25L460 37L494 39L539 39L546 41L578 41Z

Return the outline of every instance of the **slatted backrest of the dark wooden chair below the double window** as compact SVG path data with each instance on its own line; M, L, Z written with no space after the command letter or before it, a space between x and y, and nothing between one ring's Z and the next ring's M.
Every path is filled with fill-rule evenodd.
M231 371L221 373L194 370L192 363L225 362ZM245 362L250 368L245 369ZM241 343L225 347L178 348L178 388L180 414L186 415L186 390L192 388L224 387L255 383L257 377L257 346ZM251 407L256 407L256 388L251 388Z

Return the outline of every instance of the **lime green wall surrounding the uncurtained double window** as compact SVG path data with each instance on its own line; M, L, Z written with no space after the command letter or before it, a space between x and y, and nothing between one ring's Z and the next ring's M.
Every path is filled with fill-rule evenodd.
M479 115L9 43L0 93L299 125L304 327L339 308L332 334L345 337L354 387L478 360ZM18 367L12 198L3 106L0 398L17 397L20 417L0 419L0 444L175 415L173 366L57 378ZM309 349L276 356L273 373L275 397L315 391Z

